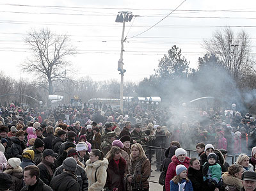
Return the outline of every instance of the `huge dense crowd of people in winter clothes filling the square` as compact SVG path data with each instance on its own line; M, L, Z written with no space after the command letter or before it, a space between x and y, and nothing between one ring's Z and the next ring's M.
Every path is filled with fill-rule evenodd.
M255 190L255 118L184 111L1 107L0 190L146 191L154 164L163 190Z

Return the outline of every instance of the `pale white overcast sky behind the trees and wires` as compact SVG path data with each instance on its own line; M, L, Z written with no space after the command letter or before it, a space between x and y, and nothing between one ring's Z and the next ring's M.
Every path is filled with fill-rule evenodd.
M77 48L76 56L67 57L77 69L77 73L67 73L69 77L120 80L117 63L122 23L116 23L115 19L118 11L123 10L140 16L125 27L125 82L139 82L153 74L159 59L172 45L182 49L190 67L196 68L198 57L205 54L203 40L225 26L234 31L244 29L252 38L255 56L253 0L187 0L156 27L131 38L163 19L182 1L0 1L0 70L15 79L33 80L28 73L20 72L20 64L30 56L23 39L31 29L48 27L54 33L70 35L72 45Z

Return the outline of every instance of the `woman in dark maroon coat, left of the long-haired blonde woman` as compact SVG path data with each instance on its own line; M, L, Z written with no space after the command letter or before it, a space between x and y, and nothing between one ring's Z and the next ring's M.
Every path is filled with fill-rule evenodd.
M125 190L124 173L127 164L124 158L122 158L121 151L121 148L112 146L106 155L109 162L106 187L108 187L109 190L116 190L116 188L118 190Z

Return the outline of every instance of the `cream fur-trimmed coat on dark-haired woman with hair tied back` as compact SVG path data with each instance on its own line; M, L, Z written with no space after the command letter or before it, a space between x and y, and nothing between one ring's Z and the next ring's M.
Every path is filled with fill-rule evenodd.
M92 162L86 161L85 172L88 177L88 191L103 190L107 180L108 159ZM95 176L96 175L96 176ZM97 181L95 180L97 178Z

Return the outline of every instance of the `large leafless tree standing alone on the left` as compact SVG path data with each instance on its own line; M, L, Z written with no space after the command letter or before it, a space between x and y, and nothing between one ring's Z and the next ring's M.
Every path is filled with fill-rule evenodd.
M70 66L67 56L76 53L67 35L52 33L49 29L31 31L24 39L32 56L22 64L25 72L34 73L38 84L54 93L53 82L64 79L65 68Z

